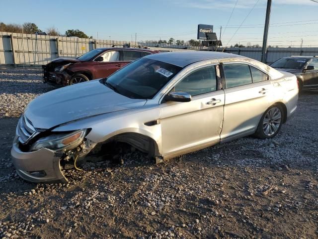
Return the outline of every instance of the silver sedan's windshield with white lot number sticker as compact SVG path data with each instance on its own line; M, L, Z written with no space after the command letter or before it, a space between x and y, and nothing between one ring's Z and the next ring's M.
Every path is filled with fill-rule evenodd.
M112 74L105 84L129 98L152 99L182 68L141 58Z

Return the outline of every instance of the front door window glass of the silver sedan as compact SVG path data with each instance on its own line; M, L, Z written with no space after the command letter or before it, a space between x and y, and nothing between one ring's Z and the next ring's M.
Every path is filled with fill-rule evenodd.
M215 66L204 67L186 76L175 87L174 91L183 91L191 96L217 90L217 77Z

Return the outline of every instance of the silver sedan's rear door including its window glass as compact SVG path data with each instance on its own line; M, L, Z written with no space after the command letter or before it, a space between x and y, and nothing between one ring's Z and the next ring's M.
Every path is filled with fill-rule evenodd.
M255 131L271 106L273 86L264 72L248 64L224 63L222 69L226 89L221 141L229 141Z

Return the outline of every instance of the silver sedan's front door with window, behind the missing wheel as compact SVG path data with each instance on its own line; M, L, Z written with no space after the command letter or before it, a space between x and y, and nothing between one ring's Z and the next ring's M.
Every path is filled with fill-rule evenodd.
M218 66L191 71L170 91L191 94L190 102L160 104L162 155L193 151L220 141L224 91L217 88Z

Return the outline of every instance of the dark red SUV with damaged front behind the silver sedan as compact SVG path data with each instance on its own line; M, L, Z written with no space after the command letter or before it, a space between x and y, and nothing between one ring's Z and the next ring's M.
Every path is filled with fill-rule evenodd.
M68 86L105 78L143 56L159 53L140 48L96 48L78 58L57 58L43 65L43 82Z

